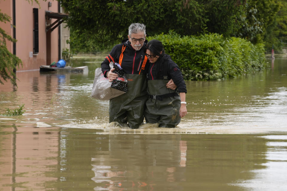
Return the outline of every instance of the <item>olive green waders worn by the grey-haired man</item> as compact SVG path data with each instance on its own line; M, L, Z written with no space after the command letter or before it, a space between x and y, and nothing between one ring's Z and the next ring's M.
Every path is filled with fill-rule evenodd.
M148 98L146 75L126 74L128 92L110 99L109 122L127 123L132 129L144 121L145 103Z

